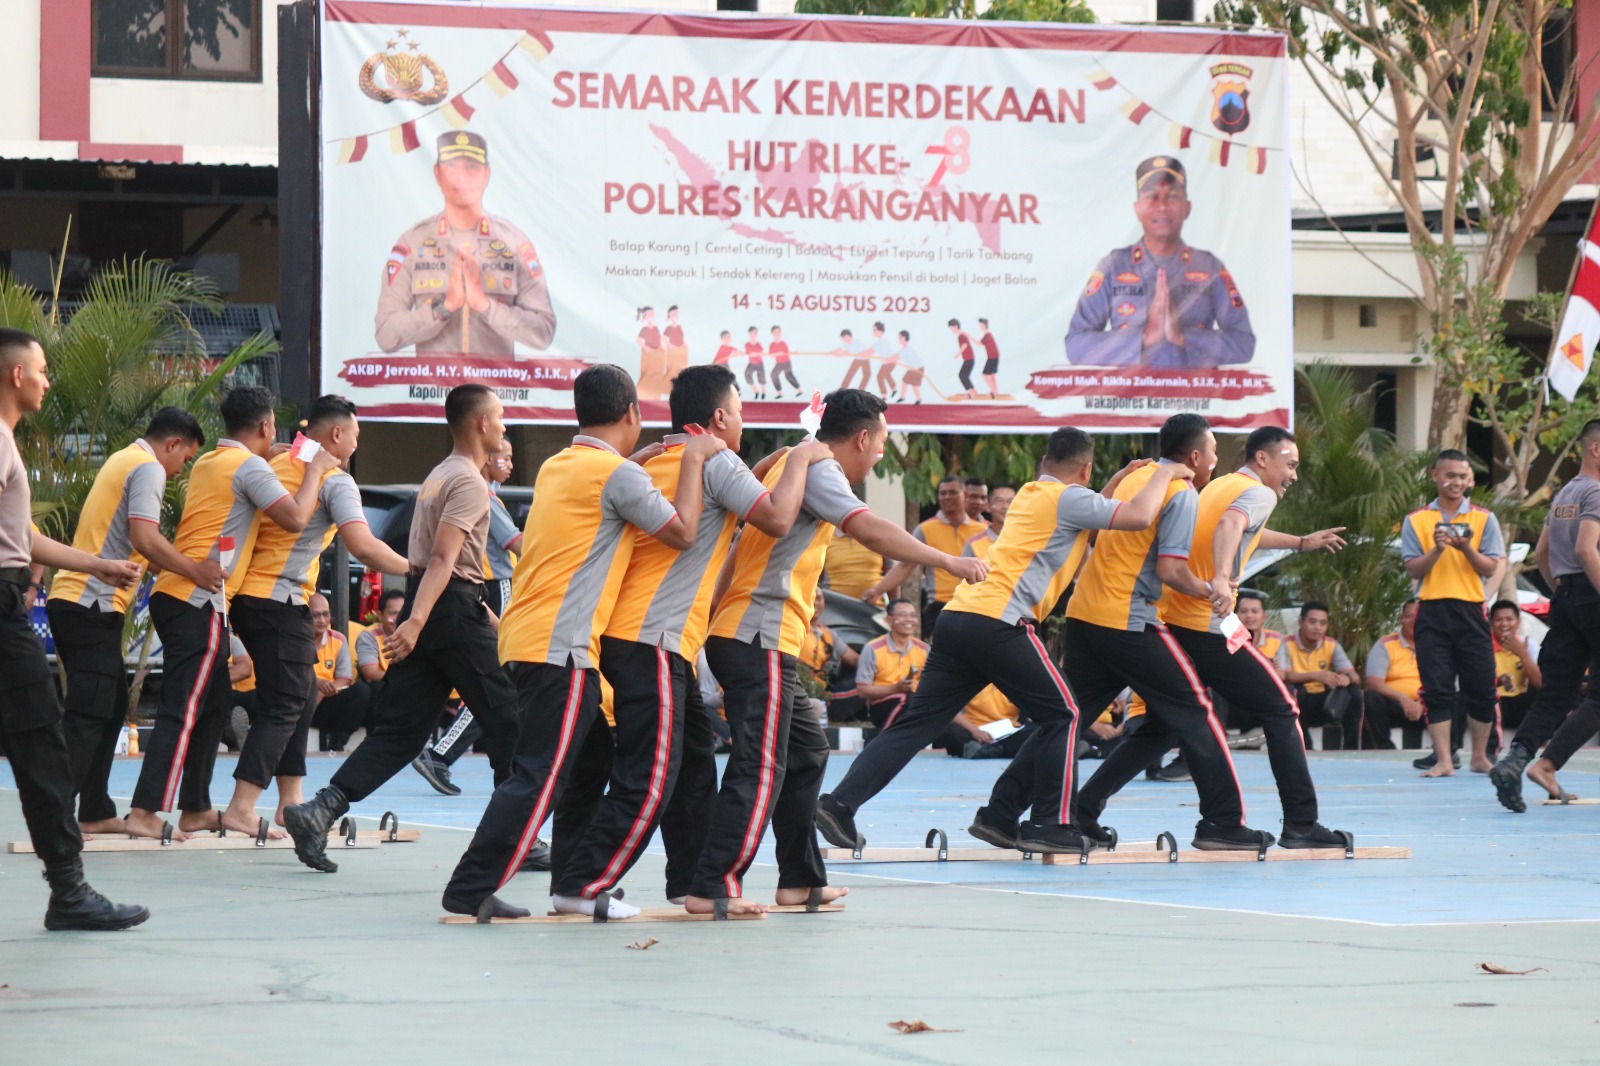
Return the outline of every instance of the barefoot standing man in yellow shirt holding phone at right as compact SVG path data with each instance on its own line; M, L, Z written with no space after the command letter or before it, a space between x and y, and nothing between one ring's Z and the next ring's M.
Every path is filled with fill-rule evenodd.
M1450 723L1458 711L1469 719L1472 768L1488 773L1496 695L1485 587L1499 584L1506 546L1494 515L1467 498L1474 479L1464 451L1440 451L1432 477L1438 496L1406 515L1400 531L1400 555L1421 600L1416 661L1434 739L1434 765L1422 776L1454 773Z

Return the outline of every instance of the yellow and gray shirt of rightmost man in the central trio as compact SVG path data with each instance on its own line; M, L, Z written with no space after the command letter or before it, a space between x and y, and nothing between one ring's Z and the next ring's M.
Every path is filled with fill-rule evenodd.
M787 461L786 455L766 472L768 488L778 483ZM749 527L739 538L733 578L712 618L710 635L758 642L766 651L798 656L811 629L816 586L834 530L866 509L850 491L850 479L837 459L813 463L794 527L776 539Z

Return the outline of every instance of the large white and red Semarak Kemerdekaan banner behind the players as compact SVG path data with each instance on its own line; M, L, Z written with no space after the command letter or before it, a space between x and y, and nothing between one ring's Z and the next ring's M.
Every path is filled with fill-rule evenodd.
M571 421L813 389L898 429L1286 426L1283 38L328 0L322 386Z

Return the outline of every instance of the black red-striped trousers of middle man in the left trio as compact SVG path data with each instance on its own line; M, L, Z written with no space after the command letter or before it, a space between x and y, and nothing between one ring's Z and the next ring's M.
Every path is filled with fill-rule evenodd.
M150 621L162 639L162 701L133 807L211 810L211 770L234 695L227 626L211 603L192 607L165 592L150 595Z

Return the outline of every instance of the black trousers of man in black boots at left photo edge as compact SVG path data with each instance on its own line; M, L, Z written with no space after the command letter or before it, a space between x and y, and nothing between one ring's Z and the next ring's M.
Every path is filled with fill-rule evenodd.
M75 858L83 834L72 816L72 760L45 645L27 621L27 571L0 578L0 755L11 760L22 820L46 864Z

